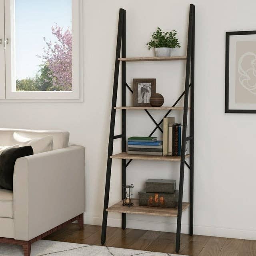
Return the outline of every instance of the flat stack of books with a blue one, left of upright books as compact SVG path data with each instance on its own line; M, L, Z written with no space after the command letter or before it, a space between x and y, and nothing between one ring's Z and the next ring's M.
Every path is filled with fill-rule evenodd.
M162 156L163 141L157 137L130 137L128 154Z

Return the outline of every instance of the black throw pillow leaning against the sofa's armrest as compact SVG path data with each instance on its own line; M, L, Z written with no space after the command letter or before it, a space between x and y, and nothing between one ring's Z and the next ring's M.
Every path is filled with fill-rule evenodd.
M33 155L32 146L7 148L0 155L0 188L12 190L14 164L20 157Z

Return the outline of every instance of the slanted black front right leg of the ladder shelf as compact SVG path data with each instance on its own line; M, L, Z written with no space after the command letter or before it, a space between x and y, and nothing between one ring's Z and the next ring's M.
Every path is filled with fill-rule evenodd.
M191 66L191 50L192 50L192 28L193 28L193 4L190 4L189 24L188 24L188 48L186 62L186 80L185 80L185 95L184 95L184 111L183 111L183 126L182 126L182 145L181 145L181 161L180 161L180 186L179 186L179 201L178 201L178 218L176 232L176 252L180 250L180 232L182 219L182 200L183 200L183 184L184 184L184 167L185 167L185 150L186 150L186 130L188 119L188 93L190 80Z

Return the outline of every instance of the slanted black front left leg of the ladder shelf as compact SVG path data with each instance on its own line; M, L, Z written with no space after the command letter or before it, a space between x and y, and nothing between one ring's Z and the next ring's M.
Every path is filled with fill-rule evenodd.
M113 86L113 95L112 95L112 108L111 108L111 118L110 118L110 133L109 133L109 142L108 142L108 161L107 161L107 172L106 172L106 184L105 184L105 197L104 197L104 209L103 209L103 218L102 218L102 232L101 232L101 244L106 242L106 230L107 230L107 219L109 201L109 190L110 190L110 177L111 177L111 166L112 159L110 156L113 154L113 140L114 140L114 128L115 128L115 118L116 110L116 98L117 98L117 88L118 88L118 75L119 75L119 60L121 52L121 41L122 41L122 29L123 29L123 20L124 20L124 9L119 11L119 22L118 22L118 33L117 33L117 43L116 43L116 62L115 62L115 71L114 71L114 86Z

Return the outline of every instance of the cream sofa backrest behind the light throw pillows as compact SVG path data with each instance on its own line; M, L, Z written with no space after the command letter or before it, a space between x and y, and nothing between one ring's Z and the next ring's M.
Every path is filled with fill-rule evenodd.
M0 146L18 144L14 139L14 132L16 134L26 137L28 139L43 138L48 135L52 136L53 149L66 148L68 146L69 132L52 131L52 130L24 130L24 129L9 129L0 128Z

